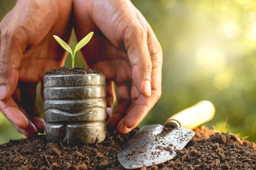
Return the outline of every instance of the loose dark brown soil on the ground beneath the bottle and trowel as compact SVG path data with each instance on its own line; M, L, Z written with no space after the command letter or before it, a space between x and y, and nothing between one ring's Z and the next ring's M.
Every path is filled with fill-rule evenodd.
M0 169L124 169L117 152L127 135L108 131L100 144L66 147L47 143L44 135L0 145ZM231 133L201 126L174 159L144 169L256 169L256 145Z

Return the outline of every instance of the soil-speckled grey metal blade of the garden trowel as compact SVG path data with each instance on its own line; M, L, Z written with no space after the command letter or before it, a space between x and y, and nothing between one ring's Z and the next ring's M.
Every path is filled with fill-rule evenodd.
M195 135L193 130L174 128L164 132L163 125L146 125L117 154L125 169L161 164L176 156Z

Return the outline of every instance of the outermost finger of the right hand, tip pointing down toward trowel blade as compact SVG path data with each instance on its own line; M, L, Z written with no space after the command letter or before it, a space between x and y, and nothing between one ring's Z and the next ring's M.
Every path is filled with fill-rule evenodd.
M147 113L154 106L161 96L161 47L157 43L154 33L148 33L148 46L152 61L151 72L151 96L142 96L137 88L132 87L132 105L127 111L127 115L120 120L117 125L118 132L127 133L135 128L144 119ZM154 43L155 42L155 43Z

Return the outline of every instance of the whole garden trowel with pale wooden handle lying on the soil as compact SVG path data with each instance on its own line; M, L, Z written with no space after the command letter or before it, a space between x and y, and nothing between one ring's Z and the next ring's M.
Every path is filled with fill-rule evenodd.
M124 144L117 158L125 169L161 164L176 156L176 150L183 149L198 127L215 115L210 101L196 105L171 116L163 125L146 125Z

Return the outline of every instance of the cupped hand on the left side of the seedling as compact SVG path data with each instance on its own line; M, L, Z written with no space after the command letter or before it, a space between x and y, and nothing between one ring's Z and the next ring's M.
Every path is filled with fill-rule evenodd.
M18 0L0 23L0 111L24 135L43 131L35 106L44 72L64 64L65 51L53 35L68 41L72 0Z

